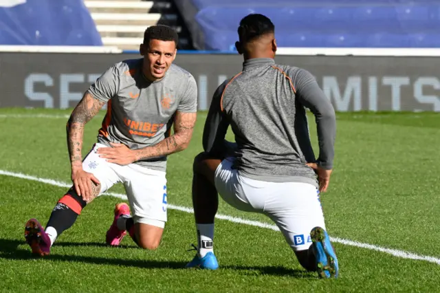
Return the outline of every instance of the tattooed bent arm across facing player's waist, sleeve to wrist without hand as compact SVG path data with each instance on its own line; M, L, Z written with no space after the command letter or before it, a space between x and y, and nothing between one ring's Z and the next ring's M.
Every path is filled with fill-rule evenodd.
M174 134L154 146L147 146L136 151L136 160L159 158L183 151L188 147L195 127L197 113L177 112L174 122Z

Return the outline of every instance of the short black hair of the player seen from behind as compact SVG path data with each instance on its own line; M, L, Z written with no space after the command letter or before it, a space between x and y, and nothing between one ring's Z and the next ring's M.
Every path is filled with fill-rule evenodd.
M239 41L246 43L265 34L275 32L275 25L263 14L249 14L240 21Z

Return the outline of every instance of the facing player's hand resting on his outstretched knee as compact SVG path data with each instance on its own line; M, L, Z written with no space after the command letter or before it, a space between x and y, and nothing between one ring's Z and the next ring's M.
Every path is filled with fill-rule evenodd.
M72 182L74 182L76 193L83 197L85 202L91 202L100 192L99 180L83 169L72 171Z

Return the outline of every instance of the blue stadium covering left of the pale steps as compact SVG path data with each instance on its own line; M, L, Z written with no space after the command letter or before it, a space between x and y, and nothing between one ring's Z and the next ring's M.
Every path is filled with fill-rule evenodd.
M101 36L83 0L0 6L0 45L95 45Z

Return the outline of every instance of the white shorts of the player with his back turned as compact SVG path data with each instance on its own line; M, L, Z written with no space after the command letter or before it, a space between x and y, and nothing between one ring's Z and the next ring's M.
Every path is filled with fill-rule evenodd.
M233 160L223 160L215 171L215 187L223 200L239 210L267 215L293 250L308 249L310 231L316 226L325 229L316 186L252 180L232 169Z

